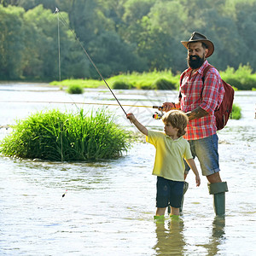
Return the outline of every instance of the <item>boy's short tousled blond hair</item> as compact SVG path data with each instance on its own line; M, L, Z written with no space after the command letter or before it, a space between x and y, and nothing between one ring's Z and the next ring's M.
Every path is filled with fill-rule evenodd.
M170 110L162 117L163 122L170 123L174 128L177 128L177 137L185 135L186 127L189 122L188 116L181 110Z

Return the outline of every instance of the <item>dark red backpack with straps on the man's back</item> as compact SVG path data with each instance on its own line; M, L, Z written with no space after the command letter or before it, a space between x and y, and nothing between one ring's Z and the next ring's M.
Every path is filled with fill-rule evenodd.
M212 68L212 65L208 65L203 72L202 76L202 81L203 83L205 82L205 76L210 68ZM181 81L183 79L183 75L181 77ZM232 88L230 84L227 84L223 79L222 83L224 85L224 97L223 101L221 102L220 106L215 109L214 115L216 118L216 127L217 130L221 130L224 128L224 126L227 124L229 118L230 118L230 113L232 112L232 106L233 106L233 101L234 101L234 94L235 91Z

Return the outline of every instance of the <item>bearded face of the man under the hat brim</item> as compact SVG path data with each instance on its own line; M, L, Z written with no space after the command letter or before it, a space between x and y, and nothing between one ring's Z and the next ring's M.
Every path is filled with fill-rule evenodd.
M188 66L192 69L197 69L206 60L205 56L208 53L208 49L205 49L201 42L189 43L188 45Z

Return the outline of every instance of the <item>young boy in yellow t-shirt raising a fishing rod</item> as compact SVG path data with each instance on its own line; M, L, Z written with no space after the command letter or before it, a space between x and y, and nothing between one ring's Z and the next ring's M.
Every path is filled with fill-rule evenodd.
M193 160L189 143L183 138L186 133L188 117L179 110L167 112L162 121L164 131L148 131L137 121L133 113L127 114L139 131L146 135L146 141L156 149L153 175L157 176L156 217L164 217L166 207L171 205L171 215L179 215L179 207L183 198L184 162L186 160L191 170L195 173L195 183L201 183L199 173Z

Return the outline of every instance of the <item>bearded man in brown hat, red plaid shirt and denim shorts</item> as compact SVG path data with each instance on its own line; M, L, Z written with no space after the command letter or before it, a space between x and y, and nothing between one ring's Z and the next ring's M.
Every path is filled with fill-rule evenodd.
M189 124L184 138L189 141L193 157L197 157L200 162L202 175L207 177L216 215L223 215L224 193L228 188L219 175L214 110L223 100L224 86L215 67L211 67L203 78L204 70L209 65L207 58L212 55L214 44L199 32L193 32L189 41L181 43L188 49L189 68L181 75L178 102L165 102L162 107L166 112L171 108L180 108L188 115ZM189 166L185 164L185 178L188 173Z

